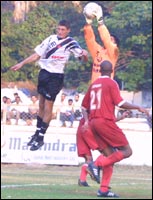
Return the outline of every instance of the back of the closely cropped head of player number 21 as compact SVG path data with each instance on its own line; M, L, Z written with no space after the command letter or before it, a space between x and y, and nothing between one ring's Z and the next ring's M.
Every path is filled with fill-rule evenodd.
M110 75L113 72L112 63L108 60L104 60L100 64L100 72L102 75Z

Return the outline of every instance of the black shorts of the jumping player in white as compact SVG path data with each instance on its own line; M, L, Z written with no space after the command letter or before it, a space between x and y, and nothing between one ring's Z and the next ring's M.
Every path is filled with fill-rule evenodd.
M55 101L57 94L63 88L64 74L50 73L41 69L38 75L38 93L47 100Z

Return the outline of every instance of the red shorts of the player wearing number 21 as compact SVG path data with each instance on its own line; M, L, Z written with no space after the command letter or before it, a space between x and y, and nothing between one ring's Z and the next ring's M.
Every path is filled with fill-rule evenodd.
M96 118L91 120L90 125L97 144L101 149L108 146L115 148L129 144L123 131L112 120Z

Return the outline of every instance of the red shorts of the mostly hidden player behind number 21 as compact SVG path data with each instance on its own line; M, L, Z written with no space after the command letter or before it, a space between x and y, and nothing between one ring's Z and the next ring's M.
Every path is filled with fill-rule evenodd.
M80 124L77 129L77 152L79 157L84 157L84 155L91 156L91 150L98 149L97 142L94 135L90 129L82 132L82 125L84 124L84 119L80 120Z

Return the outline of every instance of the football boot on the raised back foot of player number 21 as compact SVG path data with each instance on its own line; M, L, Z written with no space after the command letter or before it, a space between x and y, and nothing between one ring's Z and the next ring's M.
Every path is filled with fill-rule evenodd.
M87 171L93 180L100 183L100 168L95 166L93 161L88 164Z

